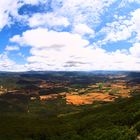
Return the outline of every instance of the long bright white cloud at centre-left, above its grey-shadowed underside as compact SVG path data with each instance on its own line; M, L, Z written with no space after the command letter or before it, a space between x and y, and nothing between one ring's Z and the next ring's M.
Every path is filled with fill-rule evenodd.
M59 48L63 46L81 47L88 45L88 41L78 34L68 32L48 31L46 28L37 28L25 31L22 36L16 35L10 39L20 45L29 45L37 48Z

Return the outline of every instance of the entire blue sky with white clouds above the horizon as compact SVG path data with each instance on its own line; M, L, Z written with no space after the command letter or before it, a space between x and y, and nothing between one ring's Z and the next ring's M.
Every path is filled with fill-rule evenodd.
M140 0L0 0L0 71L140 70Z

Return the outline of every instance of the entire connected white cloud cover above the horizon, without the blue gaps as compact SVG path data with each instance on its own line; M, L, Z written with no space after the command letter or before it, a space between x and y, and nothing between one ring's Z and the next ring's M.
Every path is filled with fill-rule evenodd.
M0 54L0 69L4 70L139 70L140 69L140 9L129 16L114 16L114 20L96 32L101 15L116 0L52 0L51 10L31 15L19 15L18 10L26 5L44 4L48 0L1 0L0 30L11 25L13 19L26 20L29 29L14 35L10 42L20 47L29 47L30 55L24 65L16 64L6 54ZM138 2L137 0L124 0ZM22 20L23 22L23 20ZM96 32L96 34L95 34ZM128 40L136 33L134 44L128 50L107 52L102 45ZM94 42L97 35L103 39ZM88 38L88 37L89 38ZM132 42L132 43L133 43ZM5 51L19 50L6 46ZM13 67L14 65L14 67Z

